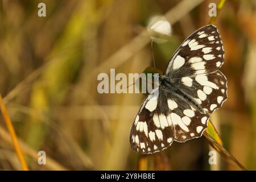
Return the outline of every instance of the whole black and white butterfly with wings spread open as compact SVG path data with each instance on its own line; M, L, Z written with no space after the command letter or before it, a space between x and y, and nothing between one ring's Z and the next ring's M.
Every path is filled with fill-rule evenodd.
M143 101L130 133L131 147L142 154L201 137L209 113L227 99L220 34L213 25L193 32L177 49L159 86Z

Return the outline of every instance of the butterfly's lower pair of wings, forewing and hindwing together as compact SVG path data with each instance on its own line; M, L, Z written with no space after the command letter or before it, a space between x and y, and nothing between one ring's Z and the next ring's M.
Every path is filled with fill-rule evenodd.
M201 137L209 116L177 95L159 86L141 105L130 133L131 147L142 154L162 151L176 140Z

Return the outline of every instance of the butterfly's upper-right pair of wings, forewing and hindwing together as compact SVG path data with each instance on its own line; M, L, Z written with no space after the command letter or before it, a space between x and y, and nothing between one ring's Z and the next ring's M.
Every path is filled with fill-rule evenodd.
M165 76L206 113L221 107L227 98L226 77L218 71L224 63L220 34L213 25L191 34L172 56Z

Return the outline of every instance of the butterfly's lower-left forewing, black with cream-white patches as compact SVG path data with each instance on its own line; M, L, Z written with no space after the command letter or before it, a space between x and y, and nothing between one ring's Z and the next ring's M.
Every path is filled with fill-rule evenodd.
M151 154L170 146L174 140L165 97L159 88L142 102L130 133L130 144L135 151Z

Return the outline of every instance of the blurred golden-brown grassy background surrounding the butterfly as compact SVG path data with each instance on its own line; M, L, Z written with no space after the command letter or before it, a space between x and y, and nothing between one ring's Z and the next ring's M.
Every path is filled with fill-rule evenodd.
M46 17L38 4L46 4ZM143 94L99 94L98 73L141 73L152 65L152 15L165 15L170 40L154 44L164 71L185 38L208 24L203 0L7 1L0 4L0 91L28 168L34 170L236 170L220 156L209 165L204 137L154 155L129 143ZM228 100L210 116L224 147L256 169L256 1L229 0L216 26L225 49ZM2 115L2 114L1 114ZM46 152L46 165L38 152ZM0 169L21 169L1 116Z

